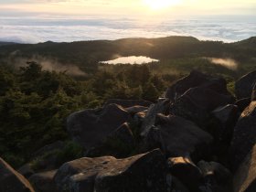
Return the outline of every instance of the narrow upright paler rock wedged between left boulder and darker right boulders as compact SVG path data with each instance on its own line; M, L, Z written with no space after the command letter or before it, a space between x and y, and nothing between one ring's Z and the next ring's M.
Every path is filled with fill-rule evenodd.
M141 126L142 136L145 136L152 127L152 125L155 124L155 116L157 115L157 113L168 114L169 106L169 100L162 100L158 101L155 104L152 104L149 107L148 111L145 113L145 117Z

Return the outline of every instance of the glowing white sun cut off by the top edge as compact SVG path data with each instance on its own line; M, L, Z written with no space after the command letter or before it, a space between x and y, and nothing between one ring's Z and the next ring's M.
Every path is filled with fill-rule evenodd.
M177 5L181 0L143 0L144 5L149 6L153 10L164 9L172 5Z

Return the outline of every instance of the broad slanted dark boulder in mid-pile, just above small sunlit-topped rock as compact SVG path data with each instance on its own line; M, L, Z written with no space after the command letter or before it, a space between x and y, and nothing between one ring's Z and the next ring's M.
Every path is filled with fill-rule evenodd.
M198 161L208 155L213 138L195 123L182 117L158 114L144 139L144 150L160 147L168 157L191 156Z

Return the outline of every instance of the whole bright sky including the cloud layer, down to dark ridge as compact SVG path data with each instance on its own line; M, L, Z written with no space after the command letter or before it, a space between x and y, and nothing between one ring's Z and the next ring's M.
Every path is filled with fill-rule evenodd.
M256 0L0 0L0 41L256 36Z

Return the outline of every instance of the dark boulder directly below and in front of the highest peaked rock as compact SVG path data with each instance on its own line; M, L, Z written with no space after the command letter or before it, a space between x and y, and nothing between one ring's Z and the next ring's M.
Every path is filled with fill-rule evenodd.
M234 98L230 94L220 94L204 87L191 88L176 99L170 107L170 113L207 127L211 111L233 102Z

